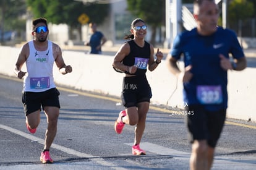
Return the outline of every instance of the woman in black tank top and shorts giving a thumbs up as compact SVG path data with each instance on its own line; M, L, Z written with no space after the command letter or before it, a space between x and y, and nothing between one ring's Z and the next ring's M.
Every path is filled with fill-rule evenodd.
M119 72L124 72L122 85L122 104L126 108L119 113L114 129L121 134L124 124L136 125L133 155L145 155L140 149L140 141L145 129L146 116L150 105L151 88L148 84L147 69L153 71L163 59L163 53L157 49L156 61L154 48L144 40L147 34L147 25L142 19L135 19L130 28L130 39L117 51L113 67Z

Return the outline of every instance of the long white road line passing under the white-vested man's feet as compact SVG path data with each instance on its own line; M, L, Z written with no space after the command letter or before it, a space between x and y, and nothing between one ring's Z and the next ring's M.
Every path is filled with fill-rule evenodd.
M7 126L7 125L0 124L0 128L1 128L1 129L4 129L4 130L7 130L7 131L9 131L9 132L12 132L12 133L14 133L14 134L20 135L20 136L22 136L22 137L28 138L28 139L30 139L30 140L32 140L32 141L36 141L36 142L38 142L38 143L40 143L40 144L42 144L42 145L45 145L45 140L43 140L43 139L41 139L41 138L38 138L38 137L35 137L35 136L33 136L33 135L30 135L30 134L26 134L25 132L22 132L22 131L20 131L20 130L14 129L14 128L9 127L9 126ZM80 151L76 151L76 150L72 150L72 149L70 149L70 148L62 147L61 145L57 145L57 144L54 144L54 143L53 143L53 144L51 145L51 148L55 148L55 149L57 149L57 150L61 150L61 151L65 152L65 153L68 153L68 154L70 154L70 155L75 155L75 156L82 157L82 158L83 158L83 157L86 157L86 158L94 158L94 159L92 159L92 161L93 161L94 163L100 164L101 166L109 166L109 167L111 167L111 168L113 168L113 169L123 169L123 168L121 168L121 167L116 166L116 165L113 164L113 163L110 163L110 162L108 162L108 161L105 161L103 158L100 158L100 157L98 157L98 156L88 155L88 154L82 153L82 152L80 152ZM124 170L124 169L123 169L123 170Z

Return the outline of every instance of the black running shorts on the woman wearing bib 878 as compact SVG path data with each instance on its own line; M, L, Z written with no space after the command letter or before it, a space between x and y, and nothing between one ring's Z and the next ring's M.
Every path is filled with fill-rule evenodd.
M124 77L121 95L124 107L134 107L143 101L150 102L151 97L151 88L146 75Z

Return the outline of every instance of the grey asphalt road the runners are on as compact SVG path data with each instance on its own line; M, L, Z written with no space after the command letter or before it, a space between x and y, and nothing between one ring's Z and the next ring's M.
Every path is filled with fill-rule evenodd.
M22 82L0 75L0 169L189 169L190 144L184 116L151 106L141 148L145 156L133 156L134 127L114 132L114 121L123 109L119 98L64 87L58 134L51 147L53 164L41 164L46 129L35 134L25 127L21 103ZM228 119L216 148L212 169L254 169L255 122Z

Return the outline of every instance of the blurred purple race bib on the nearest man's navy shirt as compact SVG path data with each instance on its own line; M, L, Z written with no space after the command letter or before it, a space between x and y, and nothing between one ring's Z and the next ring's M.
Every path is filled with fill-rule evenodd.
M220 85L198 85L197 99L201 104L220 104L223 101Z

